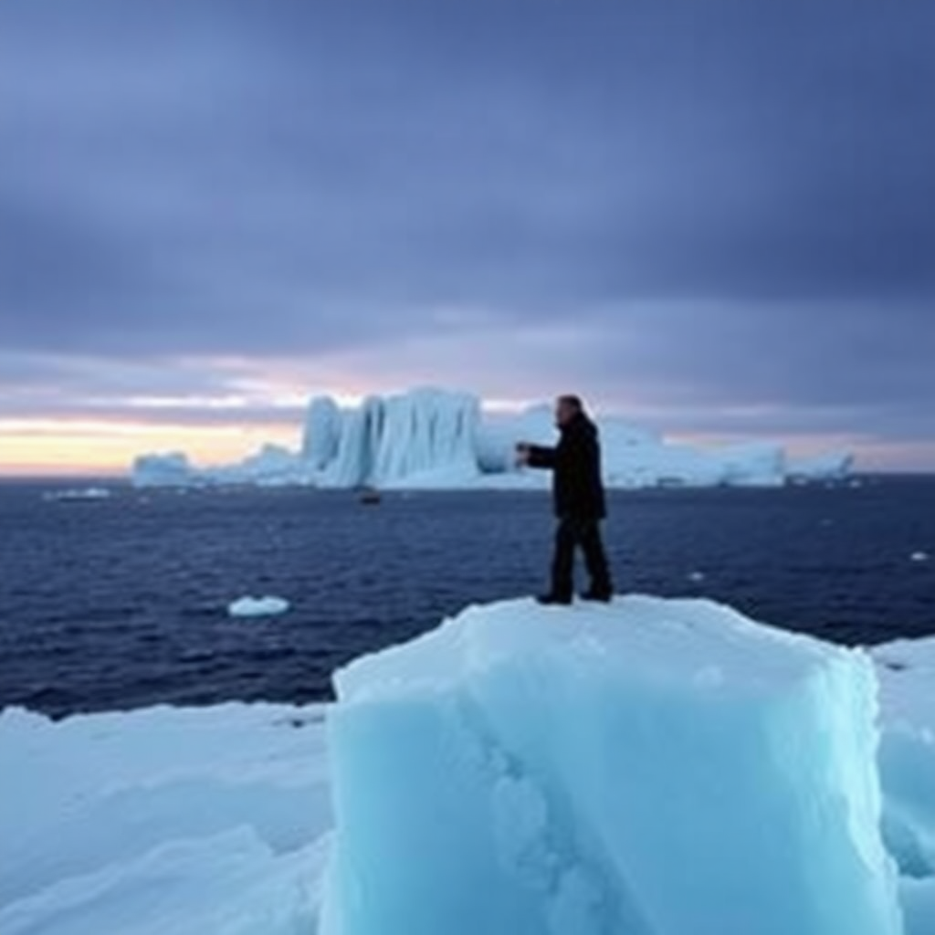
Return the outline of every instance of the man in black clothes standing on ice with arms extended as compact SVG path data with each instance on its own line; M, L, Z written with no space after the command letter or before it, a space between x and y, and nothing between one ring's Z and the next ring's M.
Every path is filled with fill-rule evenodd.
M560 438L554 448L520 442L517 461L530 468L554 472L553 498L558 525L552 562L552 589L537 599L540 604L570 604L574 591L575 549L581 547L591 587L585 600L609 601L611 572L600 539L600 521L607 515L600 472L597 425L584 412L578 396L559 396L555 424Z

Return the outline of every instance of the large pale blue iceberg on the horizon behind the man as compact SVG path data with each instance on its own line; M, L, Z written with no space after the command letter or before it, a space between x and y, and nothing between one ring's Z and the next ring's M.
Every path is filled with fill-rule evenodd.
M775 487L846 478L853 459L832 453L790 460L782 445L750 442L701 449L672 444L615 416L599 417L605 481L611 487ZM183 453L143 454L133 466L139 487L249 484L403 487L458 490L538 489L541 472L517 468L518 441L555 439L548 406L487 413L468 393L416 389L369 396L340 409L327 396L309 402L297 451L263 448L237 464L194 468Z

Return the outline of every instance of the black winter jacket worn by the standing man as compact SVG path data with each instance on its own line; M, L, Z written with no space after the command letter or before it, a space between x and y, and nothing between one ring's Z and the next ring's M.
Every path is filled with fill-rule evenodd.
M599 520L607 515L600 477L597 425L583 412L561 429L554 448L531 445L531 468L552 468L555 515L562 519Z

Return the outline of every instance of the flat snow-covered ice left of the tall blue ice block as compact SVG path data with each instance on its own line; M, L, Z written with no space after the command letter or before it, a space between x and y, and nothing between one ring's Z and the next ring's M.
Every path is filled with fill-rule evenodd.
M321 706L0 716L3 935L314 932Z

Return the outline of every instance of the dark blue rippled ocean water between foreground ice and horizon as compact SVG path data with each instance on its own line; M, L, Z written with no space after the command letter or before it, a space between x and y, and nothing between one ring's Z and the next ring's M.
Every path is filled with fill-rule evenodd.
M52 714L328 697L352 656L544 583L539 494L0 484L0 705ZM707 596L841 642L935 634L935 479L611 495L618 590ZM911 554L932 556L913 562ZM695 580L703 574L703 580ZM231 619L245 594L277 618Z

